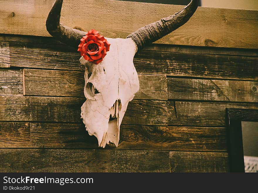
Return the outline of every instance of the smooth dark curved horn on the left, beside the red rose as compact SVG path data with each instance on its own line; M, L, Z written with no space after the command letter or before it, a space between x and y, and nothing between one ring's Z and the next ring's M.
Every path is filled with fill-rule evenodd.
M62 4L63 0L56 0L52 6L47 16L47 31L51 36L57 38L62 43L78 48L80 39L82 36L85 36L86 33L60 24Z

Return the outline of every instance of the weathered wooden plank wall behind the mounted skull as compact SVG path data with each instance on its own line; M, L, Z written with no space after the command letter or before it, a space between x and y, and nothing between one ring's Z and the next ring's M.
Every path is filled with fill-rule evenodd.
M258 109L258 11L198 8L192 21L158 42L167 44L139 51L134 64L140 90L128 105L118 147L103 149L80 119L85 101L80 55L51 37L37 37L47 35L38 23L45 22L48 1L28 4L34 9L24 12L15 1L12 7L10 1L0 2L0 33L23 34L0 35L0 172L228 172L225 108ZM69 12L70 1L65 2L63 11ZM155 11L164 15L181 9L101 2L125 11L164 9ZM35 16L39 10L42 14ZM142 19L139 10L134 12ZM116 11L110 10L105 22L119 16ZM76 17L70 20L71 13L63 21L80 26ZM97 27L108 37L124 37L156 17L161 15L139 22L127 18L130 25L119 29Z

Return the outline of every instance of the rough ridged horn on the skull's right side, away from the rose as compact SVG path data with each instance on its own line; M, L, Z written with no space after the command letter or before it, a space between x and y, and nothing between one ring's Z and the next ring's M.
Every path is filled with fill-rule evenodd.
M176 14L142 27L127 38L132 38L138 49L143 48L184 25L196 11L198 4L199 0L191 0L184 9Z

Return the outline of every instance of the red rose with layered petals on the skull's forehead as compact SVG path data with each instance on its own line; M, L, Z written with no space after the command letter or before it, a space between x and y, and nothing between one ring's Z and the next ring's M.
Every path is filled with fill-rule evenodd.
M81 43L78 46L78 52L85 60L91 63L98 64L106 56L109 51L110 43L95 29L88 31L86 36L83 36Z

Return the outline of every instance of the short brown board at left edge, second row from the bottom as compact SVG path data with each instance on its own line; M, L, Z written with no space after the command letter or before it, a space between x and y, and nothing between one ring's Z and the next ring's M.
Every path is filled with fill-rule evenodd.
M29 122L0 122L0 148L30 146Z

